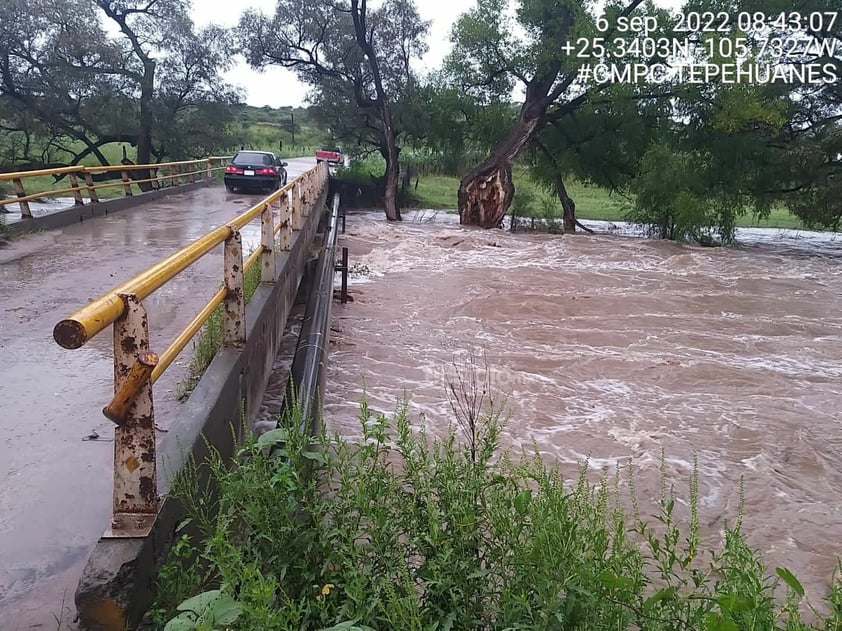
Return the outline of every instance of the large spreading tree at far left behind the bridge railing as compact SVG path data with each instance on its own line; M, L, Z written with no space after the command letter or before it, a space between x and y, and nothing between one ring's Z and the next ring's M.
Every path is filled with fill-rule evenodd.
M107 164L101 147L112 142L136 146L139 162L208 146L230 116L218 107L234 96L219 78L230 63L229 42L218 28L195 32L188 6L177 0L3 3L5 109L28 112L49 144L74 156L71 164L89 155Z

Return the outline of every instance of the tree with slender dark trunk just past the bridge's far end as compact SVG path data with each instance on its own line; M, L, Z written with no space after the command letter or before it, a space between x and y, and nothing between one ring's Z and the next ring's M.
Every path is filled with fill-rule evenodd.
M411 0L279 0L272 18L255 11L240 20L249 63L277 64L313 87L322 112L342 113L339 133L374 145L386 161L383 205L397 204L400 134L395 104L412 89L410 62L424 53L427 23Z

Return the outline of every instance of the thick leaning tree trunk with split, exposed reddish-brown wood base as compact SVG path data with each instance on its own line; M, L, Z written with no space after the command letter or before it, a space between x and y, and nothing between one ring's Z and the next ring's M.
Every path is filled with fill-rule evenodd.
M498 228L509 211L515 187L512 165L535 135L540 117L527 117L524 104L517 124L494 153L462 178L459 183L459 223Z

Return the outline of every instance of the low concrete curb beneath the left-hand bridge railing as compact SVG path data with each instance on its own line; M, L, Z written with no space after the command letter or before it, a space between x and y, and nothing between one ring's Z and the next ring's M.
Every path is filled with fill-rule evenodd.
M146 204L155 201L156 199L161 199L162 197L178 195L180 193L189 193L190 191L195 191L197 188L202 188L213 183L213 180L205 179L199 182L190 182L188 184L179 184L178 186L161 188L147 193L137 193L130 197L118 197L104 202L85 204L84 206L71 206L70 208L57 210L56 212L49 213L41 217L20 219L7 223L6 232L10 237L16 237L30 232L63 228L65 226L73 225L74 223L81 223L87 219L105 217L106 215L120 212L122 210L134 208L135 206L140 206L141 204Z

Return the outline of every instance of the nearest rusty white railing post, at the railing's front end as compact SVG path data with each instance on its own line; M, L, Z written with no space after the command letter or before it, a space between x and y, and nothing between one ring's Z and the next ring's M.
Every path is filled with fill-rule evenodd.
M133 400L119 410L124 420L114 430L113 507L105 536L145 537L158 514L158 479L152 384L143 364L157 363L157 357L149 352L149 320L143 304L134 294L120 298L126 310L114 322L115 400L136 390L128 395ZM138 363L140 369L135 368Z

